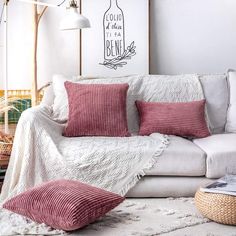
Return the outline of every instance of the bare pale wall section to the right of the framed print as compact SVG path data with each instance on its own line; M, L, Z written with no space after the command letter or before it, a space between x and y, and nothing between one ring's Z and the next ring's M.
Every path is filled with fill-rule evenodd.
M150 0L151 73L236 68L235 0Z

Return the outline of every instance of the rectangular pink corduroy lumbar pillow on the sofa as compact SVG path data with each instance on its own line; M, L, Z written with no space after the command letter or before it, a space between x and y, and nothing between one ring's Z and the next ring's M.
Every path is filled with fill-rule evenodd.
M204 138L210 135L205 120L205 100L179 103L136 101L140 135L162 133Z

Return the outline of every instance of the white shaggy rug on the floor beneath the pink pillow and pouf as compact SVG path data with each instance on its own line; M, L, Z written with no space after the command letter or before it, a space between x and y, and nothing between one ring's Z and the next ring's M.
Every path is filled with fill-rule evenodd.
M105 217L71 233L52 230L0 212L0 235L236 236L236 227L202 217L192 198L128 199ZM27 228L27 230L26 230Z

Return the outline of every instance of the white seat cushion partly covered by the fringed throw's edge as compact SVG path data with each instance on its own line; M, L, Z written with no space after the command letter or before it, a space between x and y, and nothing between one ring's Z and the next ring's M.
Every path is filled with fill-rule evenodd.
M170 136L169 147L157 158L154 167L146 175L204 176L206 154L193 142Z

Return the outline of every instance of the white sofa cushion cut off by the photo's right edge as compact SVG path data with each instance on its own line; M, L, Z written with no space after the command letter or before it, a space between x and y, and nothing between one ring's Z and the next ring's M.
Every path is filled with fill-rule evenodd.
M236 71L229 70L227 79L230 99L225 131L228 133L236 133Z

